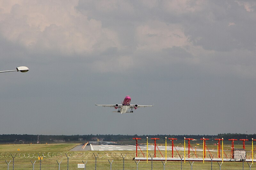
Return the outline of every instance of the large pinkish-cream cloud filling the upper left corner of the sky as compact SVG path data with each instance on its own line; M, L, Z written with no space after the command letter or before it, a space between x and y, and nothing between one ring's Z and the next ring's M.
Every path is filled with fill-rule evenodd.
M28 50L81 55L119 47L115 32L76 11L78 1L11 2L0 4L0 33Z

